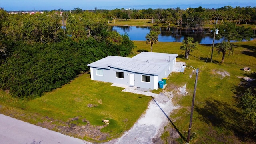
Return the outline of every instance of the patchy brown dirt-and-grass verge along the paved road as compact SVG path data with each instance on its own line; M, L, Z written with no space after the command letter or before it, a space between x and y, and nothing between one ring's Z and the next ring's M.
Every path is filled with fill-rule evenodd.
M42 117L38 114L24 112L24 110L12 108L2 104L1 114L20 119L22 121L30 120L29 123L37 126L90 142L104 142L110 138L110 134L100 131L102 128L108 125L93 126L88 120L82 119L80 116L70 118L65 122L62 120L49 118L48 116Z

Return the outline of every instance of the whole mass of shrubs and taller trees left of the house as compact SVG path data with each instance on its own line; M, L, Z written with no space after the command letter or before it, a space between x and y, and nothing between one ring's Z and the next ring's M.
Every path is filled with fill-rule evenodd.
M127 34L107 26L102 14L55 12L8 14L0 9L0 86L15 97L41 96L89 70L109 55L127 56L135 47Z

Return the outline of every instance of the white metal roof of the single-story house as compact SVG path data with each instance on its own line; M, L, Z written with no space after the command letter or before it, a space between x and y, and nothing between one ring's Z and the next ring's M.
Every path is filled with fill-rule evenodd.
M105 69L116 68L130 72L158 75L177 56L178 54L141 52L132 58L108 56L88 64L88 66Z

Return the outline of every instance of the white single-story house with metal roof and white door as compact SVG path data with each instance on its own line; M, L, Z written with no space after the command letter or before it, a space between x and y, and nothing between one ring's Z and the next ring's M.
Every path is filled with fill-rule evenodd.
M92 80L158 89L174 69L178 54L141 52L132 58L108 56L88 64Z

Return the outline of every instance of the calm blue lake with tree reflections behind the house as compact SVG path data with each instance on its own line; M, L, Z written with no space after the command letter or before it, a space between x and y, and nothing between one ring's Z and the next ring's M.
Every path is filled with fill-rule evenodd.
M127 33L130 40L146 40L145 36L150 32L150 27L140 26L113 26L112 30L121 35ZM160 28L159 42L182 42L186 37L193 37L200 44L212 44L214 34L209 30L181 30L178 28ZM214 41L214 44L221 43L224 38ZM231 41L234 42L234 41Z

